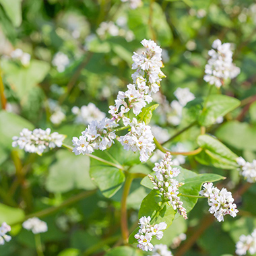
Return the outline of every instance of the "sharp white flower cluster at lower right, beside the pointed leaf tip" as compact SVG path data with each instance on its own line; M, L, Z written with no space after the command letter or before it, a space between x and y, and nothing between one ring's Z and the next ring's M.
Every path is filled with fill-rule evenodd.
M214 214L218 222L224 221L224 216L230 214L233 218L236 217L238 210L232 193L225 188L222 190L214 187L212 183L204 183L203 190L199 192L200 195L207 197L208 205L210 206L209 212Z

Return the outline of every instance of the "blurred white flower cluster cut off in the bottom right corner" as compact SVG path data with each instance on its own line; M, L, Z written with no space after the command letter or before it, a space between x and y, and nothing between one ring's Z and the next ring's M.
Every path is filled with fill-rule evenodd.
M236 243L237 255L246 255L247 251L249 251L251 255L256 253L256 229L248 236L242 234L239 237L239 241Z

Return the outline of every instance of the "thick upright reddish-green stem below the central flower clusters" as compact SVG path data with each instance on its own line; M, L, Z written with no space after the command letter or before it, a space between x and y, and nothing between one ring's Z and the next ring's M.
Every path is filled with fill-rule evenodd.
M125 245L128 244L128 238L129 238L126 201L129 195L129 191L130 191L131 183L133 179L134 179L133 174L128 172L127 177L125 179L125 186L123 187L123 195L121 199L121 232L123 237L123 243L125 243Z

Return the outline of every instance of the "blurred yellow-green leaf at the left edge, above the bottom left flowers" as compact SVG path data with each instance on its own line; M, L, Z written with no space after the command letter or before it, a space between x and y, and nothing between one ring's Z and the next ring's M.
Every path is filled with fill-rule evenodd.
M22 222L24 218L25 213L20 208L13 208L0 203L0 223L6 222L8 225L12 225Z

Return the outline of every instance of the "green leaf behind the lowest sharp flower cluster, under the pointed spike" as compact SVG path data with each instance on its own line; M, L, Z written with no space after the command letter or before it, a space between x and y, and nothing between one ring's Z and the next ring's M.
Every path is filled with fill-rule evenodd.
M141 202L141 207L139 209L139 218L143 216L150 216L150 224L156 224L160 222L166 222L167 227L172 224L174 220L176 211L173 210L172 206L168 203L164 203L163 207L159 205L160 197L158 197L156 190L152 190ZM155 218L154 218L155 217ZM129 236L129 243L136 243L135 234L139 230L136 228Z

